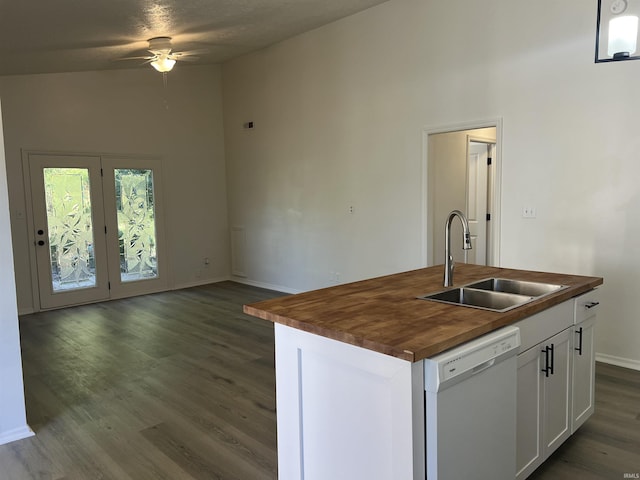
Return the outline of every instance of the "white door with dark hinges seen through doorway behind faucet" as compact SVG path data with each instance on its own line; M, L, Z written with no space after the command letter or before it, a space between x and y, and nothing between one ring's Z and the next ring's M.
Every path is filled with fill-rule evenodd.
M487 264L487 159L489 144L469 140L467 150L467 220L473 248L468 263Z

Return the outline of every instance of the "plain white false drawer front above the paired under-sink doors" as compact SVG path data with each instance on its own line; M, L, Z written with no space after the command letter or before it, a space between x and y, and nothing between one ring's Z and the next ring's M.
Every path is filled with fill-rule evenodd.
M520 329L520 352L545 341L572 325L574 302L555 305L513 324Z

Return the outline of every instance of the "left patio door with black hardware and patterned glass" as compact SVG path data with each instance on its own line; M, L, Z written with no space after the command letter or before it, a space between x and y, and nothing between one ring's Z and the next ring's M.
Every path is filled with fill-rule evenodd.
M109 298L100 157L29 154L41 308Z

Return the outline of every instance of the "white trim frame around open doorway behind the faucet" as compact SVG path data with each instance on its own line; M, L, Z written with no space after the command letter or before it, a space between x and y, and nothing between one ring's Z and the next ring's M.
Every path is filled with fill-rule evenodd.
M502 118L490 118L485 120L475 120L460 122L448 125L425 126L422 128L422 265L434 265L431 245L433 238L433 205L429 201L429 136L438 133L459 132L464 130L476 130L480 128L496 129L495 158L492 159L492 169L490 169L490 181L493 185L493 195L490 203L493 206L491 212L491 222L487 229L487 237L490 243L487 250L490 255L491 265L499 267L502 263L500 256L501 222L502 222Z

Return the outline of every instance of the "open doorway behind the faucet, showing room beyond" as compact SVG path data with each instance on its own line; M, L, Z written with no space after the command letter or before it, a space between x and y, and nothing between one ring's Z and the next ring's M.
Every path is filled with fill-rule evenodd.
M493 124L491 124L493 123ZM500 123L465 125L425 131L427 172L427 265L444 261L444 224L452 210L469 220L472 250L463 250L462 226L452 225L452 254L456 262L499 263Z

